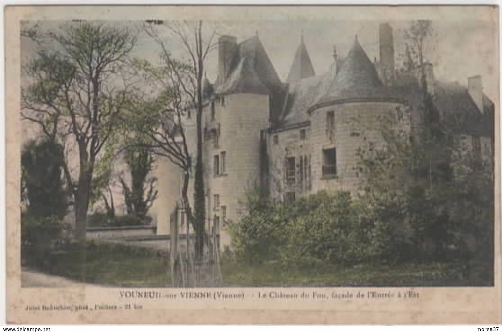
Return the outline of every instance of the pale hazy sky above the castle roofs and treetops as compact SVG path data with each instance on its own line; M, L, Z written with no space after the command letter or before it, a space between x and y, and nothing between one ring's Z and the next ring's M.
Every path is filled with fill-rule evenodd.
M407 21L389 22L394 31L394 44L396 65L402 64L404 53L403 30L409 25ZM62 21L38 21L41 30L58 29ZM247 21L218 21L208 24L206 32L216 29L219 35L232 35L237 42L258 34L269 58L281 78L285 81L289 68L293 62L295 51L303 34L307 50L310 54L316 74L328 70L333 58L333 46L337 53L346 55L355 35L373 60L379 58L379 24L380 21L367 20L264 20ZM33 25L28 22L27 25ZM145 33L138 29L137 21L110 21L110 25L129 28L138 32L138 42L133 52L134 57L145 58L151 62L159 59L160 48ZM497 45L492 41L497 40L496 25L487 20L438 20L432 22L433 35L426 42L425 57L434 65L434 74L437 79L458 82L467 85L467 78L481 75L483 78L484 92L491 98L498 96L498 60ZM173 37L168 30L160 30L162 38L174 56L186 56L178 39ZM27 61L34 54L34 43L22 39L22 61ZM206 61L207 77L211 82L216 79L217 50L214 49Z

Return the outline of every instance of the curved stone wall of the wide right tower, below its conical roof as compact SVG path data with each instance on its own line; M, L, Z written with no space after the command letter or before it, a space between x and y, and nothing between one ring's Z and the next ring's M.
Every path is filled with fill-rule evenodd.
M351 102L315 110L311 114L312 191L359 191L363 186L358 151L381 148L383 121L401 105L393 102ZM334 126L327 130L327 112L334 113ZM385 125L385 124L384 124ZM402 118L401 129L409 130ZM336 149L336 176L323 175L323 150Z

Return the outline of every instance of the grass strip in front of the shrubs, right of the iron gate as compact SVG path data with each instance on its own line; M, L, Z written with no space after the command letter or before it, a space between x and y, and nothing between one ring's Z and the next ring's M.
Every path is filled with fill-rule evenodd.
M225 286L230 287L350 287L350 286L460 286L486 285L486 281L462 279L455 263L408 263L396 266L361 264L283 270L277 264L242 266L222 264Z

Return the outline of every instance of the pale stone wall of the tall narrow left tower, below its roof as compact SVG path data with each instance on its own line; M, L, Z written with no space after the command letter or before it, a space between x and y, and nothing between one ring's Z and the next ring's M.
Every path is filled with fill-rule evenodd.
M243 214L245 194L260 184L260 130L269 123L269 97L257 94L233 94L215 102L215 118L211 120L210 107L204 123L216 129L219 137L205 142L206 198L211 230L214 219L219 218L222 248L230 244L224 228L224 219L238 221ZM222 172L224 152L224 172ZM218 155L220 171L214 170L214 156ZM219 206L215 206L215 195ZM224 216L225 214L225 216Z

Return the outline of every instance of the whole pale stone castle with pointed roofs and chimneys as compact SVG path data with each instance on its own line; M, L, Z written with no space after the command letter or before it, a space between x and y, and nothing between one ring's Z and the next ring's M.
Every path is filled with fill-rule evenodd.
M355 37L345 57L334 50L330 68L316 75L302 38L282 82L258 36L241 43L219 38L218 76L213 84L204 80L202 123L206 229L220 234L222 248L230 243L225 220L243 216L250 190L260 188L281 201L320 190L361 190L358 151L384 143L382 119L396 116L410 135L422 124L423 72L440 116L458 120L453 130L462 149L492 162L494 106L482 92L481 77L468 78L467 87L438 81L431 64L417 68L409 54L396 68L389 24L380 26L378 39L378 61L367 57ZM187 115L185 127L195 156L195 116ZM158 234L169 234L182 173L161 159L157 176Z

